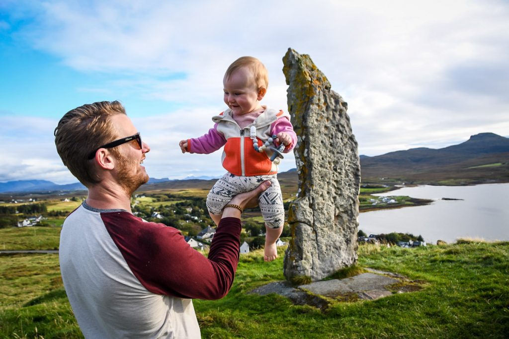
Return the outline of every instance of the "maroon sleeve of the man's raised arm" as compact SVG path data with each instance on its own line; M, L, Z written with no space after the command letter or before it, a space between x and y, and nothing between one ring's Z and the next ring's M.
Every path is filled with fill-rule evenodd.
M219 299L232 287L239 262L240 219L221 219L206 258L176 228L146 223L128 212L101 213L101 217L147 290L180 298Z

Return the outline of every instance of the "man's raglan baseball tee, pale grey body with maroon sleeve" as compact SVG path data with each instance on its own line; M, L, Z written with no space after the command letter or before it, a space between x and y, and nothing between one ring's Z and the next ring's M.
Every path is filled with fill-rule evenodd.
M223 218L209 256L179 230L128 211L80 205L65 220L60 268L87 338L199 338L192 298L230 290L239 260L240 220Z

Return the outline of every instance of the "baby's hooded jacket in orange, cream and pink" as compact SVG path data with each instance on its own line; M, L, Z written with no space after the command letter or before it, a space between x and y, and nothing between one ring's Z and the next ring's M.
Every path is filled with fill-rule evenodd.
M189 152L208 154L224 146L221 162L224 169L230 173L238 176L277 173L280 158L271 162L272 152L269 149L266 152L254 150L249 134L251 126L256 127L258 146L263 145L272 135L277 135L279 132L288 133L292 137L292 143L285 147L285 153L295 147L297 135L290 122L290 114L265 106L264 108L265 111L244 129L241 129L234 120L230 109L213 116L212 121L215 125L207 134L187 140Z

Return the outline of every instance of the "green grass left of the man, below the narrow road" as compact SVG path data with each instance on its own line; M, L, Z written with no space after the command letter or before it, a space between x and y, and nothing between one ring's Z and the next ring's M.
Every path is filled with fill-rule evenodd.
M0 337L82 337L54 254L0 256Z

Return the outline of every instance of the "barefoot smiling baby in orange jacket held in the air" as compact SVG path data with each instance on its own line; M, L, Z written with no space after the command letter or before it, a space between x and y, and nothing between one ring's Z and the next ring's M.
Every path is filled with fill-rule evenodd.
M256 188L262 181L272 185L259 199L265 221L265 261L277 258L276 241L285 222L281 188L277 181L280 158L271 161L271 142L289 152L297 142L290 115L260 105L267 93L268 73L260 60L243 56L234 61L223 78L224 103L228 109L212 117L215 125L199 138L181 140L183 153L208 154L224 146L222 166L228 171L207 196L210 217L216 223L233 196ZM272 138L275 136L275 138ZM265 145L269 142L269 146ZM235 206L234 206L235 207ZM240 207L237 207L240 209Z

